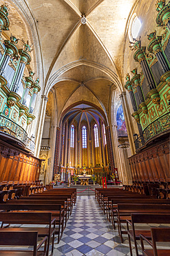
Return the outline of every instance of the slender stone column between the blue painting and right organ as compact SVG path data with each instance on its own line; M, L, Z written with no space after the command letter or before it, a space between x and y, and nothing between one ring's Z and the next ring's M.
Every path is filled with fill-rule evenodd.
M123 91L122 94L119 95L122 106L123 106L123 113L125 116L125 123L126 123L126 127L127 127L127 135L129 138L129 144L131 147L131 154L135 154L135 145L134 145L134 126L131 120L131 115L130 115L130 111L129 111L129 104L127 102L127 96L126 96L126 92Z

